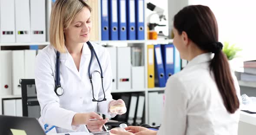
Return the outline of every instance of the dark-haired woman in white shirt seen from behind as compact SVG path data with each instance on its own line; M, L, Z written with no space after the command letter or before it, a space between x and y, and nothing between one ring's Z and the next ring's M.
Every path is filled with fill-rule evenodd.
M218 42L218 26L207 6L184 7L174 16L174 41L189 61L166 84L159 131L131 126L117 135L237 135L240 88ZM213 56L214 55L214 56Z

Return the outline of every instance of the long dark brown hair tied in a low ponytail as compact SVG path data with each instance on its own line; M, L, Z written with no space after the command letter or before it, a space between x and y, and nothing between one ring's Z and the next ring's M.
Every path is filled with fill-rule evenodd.
M239 108L239 100L226 55L218 42L218 26L213 12L208 6L186 6L174 16L174 27L178 33L187 33L188 38L200 49L214 53L210 61L217 87L224 106L229 113Z

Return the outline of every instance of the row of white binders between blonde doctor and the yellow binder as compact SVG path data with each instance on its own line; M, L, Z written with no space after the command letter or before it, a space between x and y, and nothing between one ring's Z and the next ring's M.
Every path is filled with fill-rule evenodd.
M111 58L112 90L145 88L143 50L140 47L106 47Z

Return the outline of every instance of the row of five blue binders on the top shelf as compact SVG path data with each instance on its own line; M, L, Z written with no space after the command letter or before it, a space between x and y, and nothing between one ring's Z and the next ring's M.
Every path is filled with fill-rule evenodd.
M144 0L101 0L102 40L144 40Z

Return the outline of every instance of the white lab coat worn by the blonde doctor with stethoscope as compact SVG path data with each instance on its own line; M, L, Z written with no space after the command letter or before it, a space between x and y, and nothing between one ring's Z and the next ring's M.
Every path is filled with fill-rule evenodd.
M39 122L55 125L57 132L85 131L84 126L72 126L75 113L98 112L114 117L108 112L108 103L112 100L112 71L110 56L106 48L92 43L102 66L103 86L107 101L92 102L92 87L88 76L91 51L84 43L79 71L72 56L60 53L60 84L64 89L62 96L54 92L56 78L56 51L52 45L46 46L37 56L35 64L35 82L37 99L41 107ZM100 71L93 55L91 73ZM100 74L92 74L94 97L103 99L102 82Z

